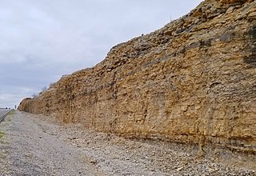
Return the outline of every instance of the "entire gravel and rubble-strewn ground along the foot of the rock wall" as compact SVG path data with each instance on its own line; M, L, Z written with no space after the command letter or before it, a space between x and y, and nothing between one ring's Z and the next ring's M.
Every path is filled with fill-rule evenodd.
M256 175L256 157L117 137L16 111L0 123L0 175Z

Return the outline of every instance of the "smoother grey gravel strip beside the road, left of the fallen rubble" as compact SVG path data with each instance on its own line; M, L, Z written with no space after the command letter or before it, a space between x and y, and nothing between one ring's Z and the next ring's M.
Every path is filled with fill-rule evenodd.
M0 124L1 175L102 175L77 147L47 134L46 122L16 112Z

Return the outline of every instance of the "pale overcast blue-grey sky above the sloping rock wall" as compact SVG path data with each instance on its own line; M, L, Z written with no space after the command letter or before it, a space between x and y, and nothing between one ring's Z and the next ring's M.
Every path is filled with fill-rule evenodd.
M202 0L0 0L0 107L18 106L111 47L165 26Z

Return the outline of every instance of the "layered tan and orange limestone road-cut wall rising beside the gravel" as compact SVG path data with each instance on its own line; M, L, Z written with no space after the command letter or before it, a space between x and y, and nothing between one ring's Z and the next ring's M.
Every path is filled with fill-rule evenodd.
M19 110L128 137L256 151L256 2L206 0Z

